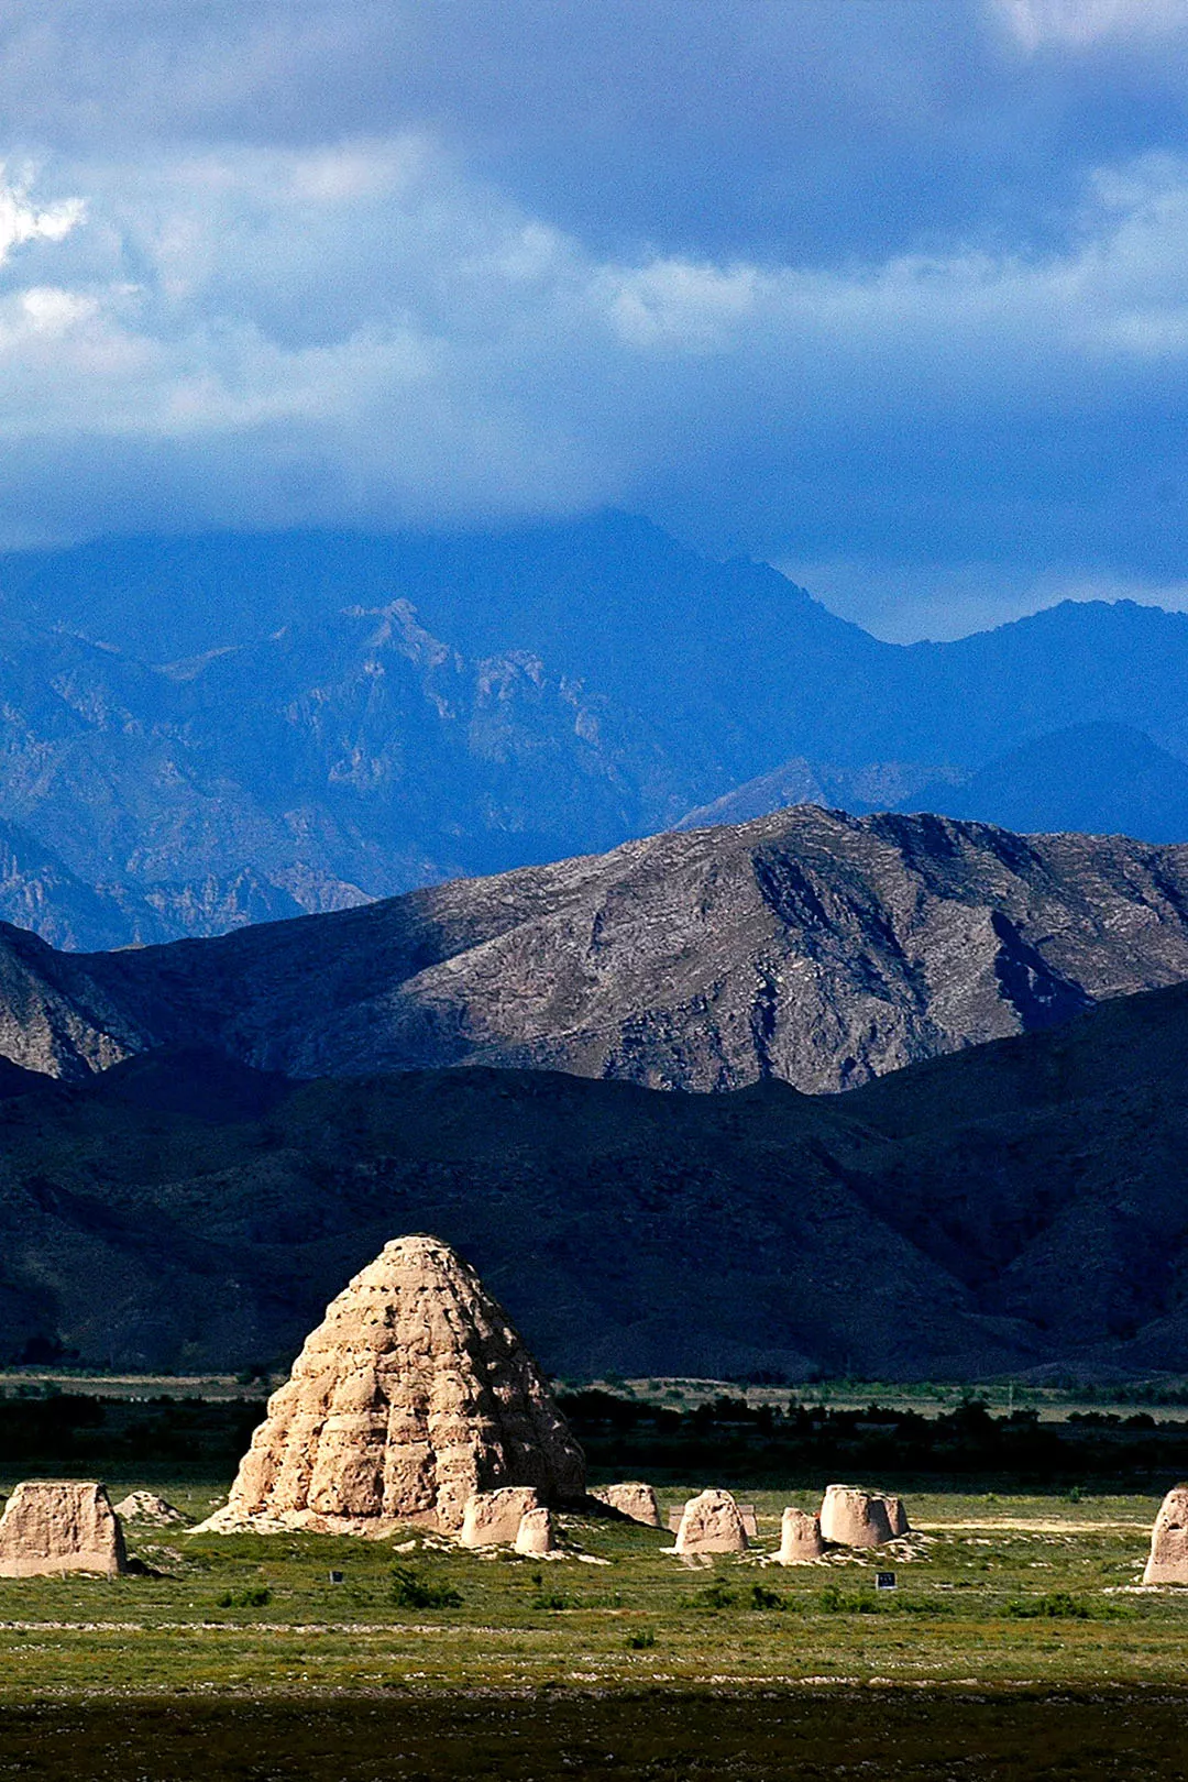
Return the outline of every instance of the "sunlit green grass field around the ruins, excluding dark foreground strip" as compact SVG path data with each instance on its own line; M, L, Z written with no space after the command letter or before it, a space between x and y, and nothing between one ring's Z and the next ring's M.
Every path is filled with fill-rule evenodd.
M201 1515L214 1493L166 1495ZM563 1557L543 1561L411 1529L362 1541L132 1525L130 1552L159 1575L0 1581L0 1700L1188 1686L1188 1590L1135 1590L1154 1497L933 1493L910 1502L919 1533L894 1556L782 1568L769 1556L789 1500L814 1502L759 1493L752 1550L698 1565L664 1552L663 1531L575 1516ZM894 1566L894 1593L875 1591L876 1566ZM460 1600L433 1606L438 1593Z

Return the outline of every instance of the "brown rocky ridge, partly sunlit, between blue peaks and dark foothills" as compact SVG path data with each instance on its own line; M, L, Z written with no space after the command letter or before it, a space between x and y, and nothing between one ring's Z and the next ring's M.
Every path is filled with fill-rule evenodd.
M169 946L5 928L0 1055L823 1092L1183 980L1188 846L798 805Z

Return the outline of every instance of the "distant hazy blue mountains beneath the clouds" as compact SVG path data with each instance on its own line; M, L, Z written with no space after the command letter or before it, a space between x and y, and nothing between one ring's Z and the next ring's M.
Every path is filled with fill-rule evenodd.
M214 934L791 802L1188 839L1188 617L883 643L647 520L0 556L0 916Z

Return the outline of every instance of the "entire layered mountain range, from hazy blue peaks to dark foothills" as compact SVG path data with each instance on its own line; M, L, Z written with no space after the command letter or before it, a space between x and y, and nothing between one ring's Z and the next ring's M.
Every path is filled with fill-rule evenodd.
M283 1361L431 1230L568 1374L1183 1367L1188 618L622 517L0 593L0 1360Z

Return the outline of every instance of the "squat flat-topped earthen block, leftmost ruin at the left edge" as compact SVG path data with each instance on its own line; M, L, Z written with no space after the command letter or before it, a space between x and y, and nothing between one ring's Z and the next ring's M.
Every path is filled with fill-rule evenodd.
M0 1516L0 1577L126 1572L123 1529L102 1484L25 1479Z

